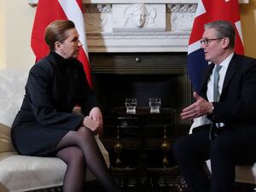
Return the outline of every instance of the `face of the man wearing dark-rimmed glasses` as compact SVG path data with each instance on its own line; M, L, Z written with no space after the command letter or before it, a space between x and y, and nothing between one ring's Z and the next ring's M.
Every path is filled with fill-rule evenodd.
M204 49L206 61L219 63L224 52L222 41L224 38L218 38L215 29L206 29L201 39L201 49Z

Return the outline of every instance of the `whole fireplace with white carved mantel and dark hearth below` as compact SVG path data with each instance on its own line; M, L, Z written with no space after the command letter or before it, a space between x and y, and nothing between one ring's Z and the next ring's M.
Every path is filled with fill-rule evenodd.
M189 132L190 122L179 114L191 102L185 63L196 3L128 2L84 5L91 74L104 114L102 143L120 185L177 189L171 148ZM152 20L134 26L127 13L142 7ZM161 108L173 110L116 115L113 109L124 108L125 97L136 97L139 108L148 107L148 97L160 97Z

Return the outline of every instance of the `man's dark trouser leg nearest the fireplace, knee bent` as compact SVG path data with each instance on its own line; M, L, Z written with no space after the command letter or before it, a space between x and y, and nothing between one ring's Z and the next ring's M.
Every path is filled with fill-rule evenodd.
M209 179L204 169L209 150L208 132L201 130L181 137L172 147L189 192L209 191Z

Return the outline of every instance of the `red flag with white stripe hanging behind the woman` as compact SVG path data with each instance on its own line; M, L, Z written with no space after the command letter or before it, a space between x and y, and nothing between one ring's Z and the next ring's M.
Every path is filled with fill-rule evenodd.
M36 61L44 58L49 54L48 45L44 41L46 26L54 20L72 20L79 32L79 40L83 44L79 52L79 61L83 63L84 72L91 86L90 64L82 10L82 0L38 0L38 8L32 29L31 46L36 55Z

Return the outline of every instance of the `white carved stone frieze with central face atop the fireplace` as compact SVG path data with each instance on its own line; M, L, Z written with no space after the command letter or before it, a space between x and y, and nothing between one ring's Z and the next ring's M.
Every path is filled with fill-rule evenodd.
M189 32L196 4L84 4L87 32Z

